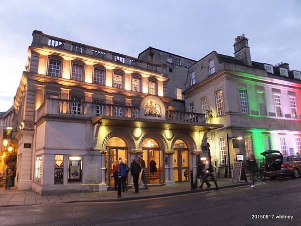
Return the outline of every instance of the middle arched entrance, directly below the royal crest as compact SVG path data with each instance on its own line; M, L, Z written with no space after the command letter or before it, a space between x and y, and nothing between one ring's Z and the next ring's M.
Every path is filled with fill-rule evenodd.
M164 152L152 138L146 138L142 143L142 158L145 162L145 175L149 184L165 182Z

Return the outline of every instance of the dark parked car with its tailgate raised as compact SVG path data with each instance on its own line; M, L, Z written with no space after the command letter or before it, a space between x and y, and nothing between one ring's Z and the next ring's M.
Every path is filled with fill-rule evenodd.
M264 175L270 179L291 176L297 178L301 172L301 156L282 155L276 150L260 153L265 157Z

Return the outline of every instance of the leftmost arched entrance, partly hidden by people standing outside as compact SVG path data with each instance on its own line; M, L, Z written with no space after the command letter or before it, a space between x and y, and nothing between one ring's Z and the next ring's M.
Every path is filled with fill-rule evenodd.
M105 183L107 186L114 186L113 166L121 159L127 164L127 145L119 137L111 137L106 143L107 153L105 156Z

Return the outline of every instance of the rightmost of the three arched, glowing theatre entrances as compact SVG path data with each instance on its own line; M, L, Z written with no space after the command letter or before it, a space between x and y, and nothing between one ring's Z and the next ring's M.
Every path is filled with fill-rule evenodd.
M189 151L186 143L180 139L174 144L173 167L175 181L189 180Z

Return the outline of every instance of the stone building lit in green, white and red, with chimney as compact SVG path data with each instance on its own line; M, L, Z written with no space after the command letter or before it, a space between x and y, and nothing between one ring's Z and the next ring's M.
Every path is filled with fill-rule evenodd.
M251 60L248 39L235 39L234 57L213 51L189 68L186 109L224 127L208 133L213 159L230 162L269 149L301 151L301 72L287 63ZM242 137L239 146L233 139ZM237 142L234 142L237 143ZM234 147L234 148L233 148ZM241 156L242 155L242 156Z

